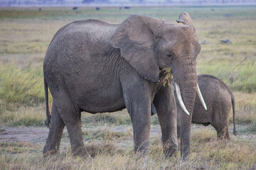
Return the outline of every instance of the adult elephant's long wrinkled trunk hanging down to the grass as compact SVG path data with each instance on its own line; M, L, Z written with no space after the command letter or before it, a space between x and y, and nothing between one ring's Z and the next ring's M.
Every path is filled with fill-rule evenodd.
M188 159L190 149L191 118L196 99L197 74L196 64L188 64L183 68L187 68L187 70L178 72L177 77L174 74L174 81L180 86L184 106L190 114L181 113L181 157L183 160L186 160Z

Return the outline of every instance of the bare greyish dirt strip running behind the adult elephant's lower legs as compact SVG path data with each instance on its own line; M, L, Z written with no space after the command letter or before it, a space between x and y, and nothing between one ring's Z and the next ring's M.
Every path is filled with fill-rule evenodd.
M237 130L239 132L238 136L235 139L238 140L249 140L256 142L256 134L250 132L244 132L247 128L246 125L237 125ZM102 129L102 127L100 127ZM104 128L104 127L103 127ZM192 125L191 130L192 132L195 130L200 130L203 128L210 128L214 130L211 126L203 127L203 125ZM82 128L82 130L97 130L98 128ZM132 126L131 125L119 125L114 126L111 129L113 132L128 132L132 133ZM64 133L67 133L67 130L64 130ZM229 127L229 133L231 139L235 136L233 135L233 125ZM23 127L23 128L0 128L0 142L28 142L33 145L44 145L46 142L46 138L48 136L48 128L35 128L35 127ZM150 130L150 137L158 137L161 136L161 129L159 125L151 125ZM117 141L117 145L132 145L132 137L130 139ZM62 145L68 145L68 140L62 140Z

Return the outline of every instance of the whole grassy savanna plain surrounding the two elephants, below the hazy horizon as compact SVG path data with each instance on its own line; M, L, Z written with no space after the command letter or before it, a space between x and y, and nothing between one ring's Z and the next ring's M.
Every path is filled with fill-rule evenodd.
M182 11L190 13L201 42L198 74L222 79L235 95L238 135L233 135L231 110L230 141L217 140L211 126L192 125L189 161L181 162L179 152L165 159L154 115L148 160L135 161L126 110L82 113L83 140L94 159L72 156L66 130L60 153L43 157L48 129L42 64L56 31L87 18L120 23L130 14L176 23ZM0 169L256 169L255 30L256 6L0 8ZM225 39L232 43L220 42Z

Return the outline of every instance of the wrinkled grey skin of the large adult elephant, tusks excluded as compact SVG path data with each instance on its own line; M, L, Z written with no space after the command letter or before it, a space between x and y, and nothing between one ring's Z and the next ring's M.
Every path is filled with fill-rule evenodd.
M134 152L144 154L149 149L153 102L161 125L164 154L171 157L177 150L176 104L173 90L157 83L161 79L159 71L172 66L185 106L192 113L196 56L201 50L188 13L181 13L177 21L183 24L133 15L118 25L89 19L60 28L43 61L47 115L48 87L53 96L43 153L58 152L66 125L73 154L90 157L82 142L81 112L127 108L132 118ZM186 129L181 139L186 144L183 153L188 157L191 117L184 114L183 121L187 124L181 126Z

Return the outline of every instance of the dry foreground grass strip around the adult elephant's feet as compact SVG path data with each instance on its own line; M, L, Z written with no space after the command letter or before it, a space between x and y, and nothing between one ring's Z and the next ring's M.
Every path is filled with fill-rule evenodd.
M241 137L218 141L214 132L201 129L192 133L191 158L181 162L179 153L164 158L160 137L151 140L149 156L137 159L132 148L117 147L114 140L85 142L92 161L73 157L70 147L53 157L43 158L41 147L28 143L0 143L1 169L253 169L255 143L245 145Z

